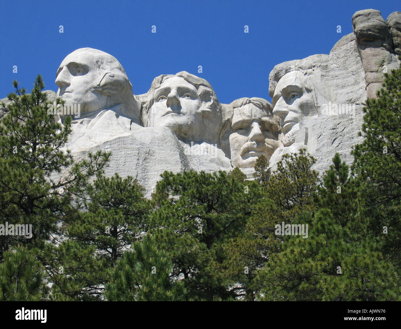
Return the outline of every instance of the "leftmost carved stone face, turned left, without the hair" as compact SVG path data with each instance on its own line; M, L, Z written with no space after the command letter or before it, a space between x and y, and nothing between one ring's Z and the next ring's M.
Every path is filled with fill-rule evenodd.
M61 62L56 74L57 97L67 104L81 104L81 114L107 106L108 96L92 90L99 79L95 55L99 57L91 51L73 51Z

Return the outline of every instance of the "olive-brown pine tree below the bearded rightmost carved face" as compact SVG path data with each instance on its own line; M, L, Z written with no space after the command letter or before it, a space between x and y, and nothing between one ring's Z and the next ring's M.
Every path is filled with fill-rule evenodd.
M227 258L222 274L231 277L243 299L255 300L264 284L257 271L269 264L282 242L282 236L274 234L275 225L294 223L299 214L314 210L312 194L318 186L318 174L312 170L315 161L305 150L286 154L271 176L265 159L257 163L259 177L266 178L261 180L261 197L253 203L245 229L224 244Z

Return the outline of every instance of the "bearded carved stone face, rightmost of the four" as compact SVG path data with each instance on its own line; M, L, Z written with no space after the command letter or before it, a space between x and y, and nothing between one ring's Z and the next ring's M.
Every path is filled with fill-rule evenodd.
M312 92L305 88L305 77L300 71L283 76L272 99L273 115L281 118L282 132L286 135L294 125L317 115Z

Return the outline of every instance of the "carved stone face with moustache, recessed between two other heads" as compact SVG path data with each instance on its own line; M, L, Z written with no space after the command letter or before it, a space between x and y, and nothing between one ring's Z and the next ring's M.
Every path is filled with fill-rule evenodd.
M234 167L254 167L259 156L270 159L279 145L277 123L253 104L234 109L231 129L229 141Z

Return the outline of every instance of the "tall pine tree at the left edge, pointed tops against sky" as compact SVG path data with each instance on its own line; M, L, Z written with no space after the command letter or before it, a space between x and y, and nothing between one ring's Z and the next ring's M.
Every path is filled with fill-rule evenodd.
M8 95L9 112L0 125L0 223L31 224L31 239L1 236L1 250L10 245L38 246L54 237L58 223L76 209L71 201L85 193L89 178L101 174L109 153L89 153L75 162L63 151L71 133L71 117L65 124L48 114L44 83L37 76L31 94L18 88ZM63 103L60 99L57 102ZM63 172L62 172L63 170Z

